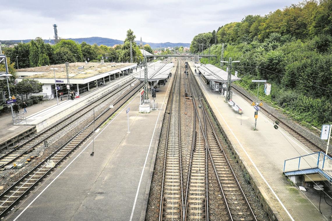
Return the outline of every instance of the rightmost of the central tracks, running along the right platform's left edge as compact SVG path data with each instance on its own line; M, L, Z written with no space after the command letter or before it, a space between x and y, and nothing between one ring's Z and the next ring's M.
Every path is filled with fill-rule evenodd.
M199 91L197 82L193 79L193 73L190 70L190 88L193 98L197 97ZM215 133L213 125L209 119L209 115L200 100L202 109L202 119L200 121L200 129L205 138L207 155L217 178L217 182L222 195L222 204L224 205L223 220L255 220L256 216L245 196L239 181L229 163L227 156L221 146L221 143ZM197 109L196 109L197 111ZM197 116L199 113L197 111ZM207 200L208 201L208 200ZM208 207L207 207L208 210ZM207 217L208 218L208 217Z

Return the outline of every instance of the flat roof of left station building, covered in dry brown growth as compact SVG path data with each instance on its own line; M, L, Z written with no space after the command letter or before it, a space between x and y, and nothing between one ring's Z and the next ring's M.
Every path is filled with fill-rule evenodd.
M69 63L68 66L68 75L69 78L72 79L84 79L89 78L95 75L103 74L110 71L121 71L119 69L125 68L129 66L134 66L136 63L84 63L84 62L76 62L76 63ZM36 73L31 76L23 77L23 78L54 78L53 70L49 70L50 68L57 68L55 70L56 78L67 78L66 73L66 65L59 64L59 65L49 65L49 66L42 66L42 67L34 67L34 68L23 68L18 69L16 72L31 72ZM80 69L79 69L80 68ZM82 68L82 69L81 69ZM116 73L116 72L115 72Z

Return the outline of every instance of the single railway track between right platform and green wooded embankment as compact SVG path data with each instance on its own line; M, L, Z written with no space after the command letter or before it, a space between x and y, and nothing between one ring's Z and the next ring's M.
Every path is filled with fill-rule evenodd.
M239 92L239 94L245 98L249 103L254 102L248 95L242 93L238 89L232 86L233 89ZM279 121L279 126L282 127L285 131L287 131L290 135L292 135L294 138L296 138L298 141L303 143L305 146L310 148L312 151L317 152L317 151L323 151L325 152L326 150L315 144L313 141L311 141L309 138L305 137L301 133L297 132L295 129L293 129L290 125L282 121L280 118L276 117L275 115L271 114L269 111L267 111L264 107L260 107L260 111L265 114L268 118L270 118L272 121ZM332 155L328 153L330 157Z

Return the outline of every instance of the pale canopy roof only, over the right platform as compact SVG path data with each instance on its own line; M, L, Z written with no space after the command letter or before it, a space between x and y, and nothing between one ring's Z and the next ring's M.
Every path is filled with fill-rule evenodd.
M228 73L214 65L211 64L194 64L197 71L200 71L203 76L209 80L214 82L227 83ZM234 75L231 75L231 82L241 80Z

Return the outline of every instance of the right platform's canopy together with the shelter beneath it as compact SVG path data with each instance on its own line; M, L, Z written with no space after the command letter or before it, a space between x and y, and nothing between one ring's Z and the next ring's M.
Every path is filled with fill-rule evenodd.
M227 87L223 87L223 84L227 84L228 73L211 64L194 64L197 73L203 75L207 84L211 90L219 91L224 94ZM231 82L241 80L237 76L231 75Z

